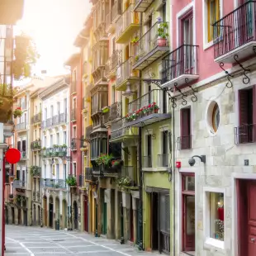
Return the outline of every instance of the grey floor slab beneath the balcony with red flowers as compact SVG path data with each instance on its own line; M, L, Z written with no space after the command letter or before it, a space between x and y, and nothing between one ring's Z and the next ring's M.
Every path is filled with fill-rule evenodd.
M133 126L133 127L143 127L149 126L159 121L164 121L165 119L171 118L171 114L159 114L153 113L149 116L143 116L135 121L130 121L125 124L125 127Z

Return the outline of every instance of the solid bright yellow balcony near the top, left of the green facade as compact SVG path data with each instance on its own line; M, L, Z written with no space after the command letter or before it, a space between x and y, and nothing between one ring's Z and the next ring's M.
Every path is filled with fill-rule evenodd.
M140 29L140 15L138 12L133 12L133 9L134 4L130 4L116 21L117 44L125 44L130 40L135 31Z

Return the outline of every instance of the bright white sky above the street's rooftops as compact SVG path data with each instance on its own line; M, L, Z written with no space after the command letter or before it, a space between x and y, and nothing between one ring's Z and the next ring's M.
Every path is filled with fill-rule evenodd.
M46 70L54 76L68 73L64 61L78 49L73 46L91 9L89 0L26 0L17 30L25 31L36 42L40 59L36 75Z

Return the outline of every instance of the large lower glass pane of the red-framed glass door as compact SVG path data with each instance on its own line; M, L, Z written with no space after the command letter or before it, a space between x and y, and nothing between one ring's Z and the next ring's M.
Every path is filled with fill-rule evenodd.
M195 235L195 197L186 197L186 235Z

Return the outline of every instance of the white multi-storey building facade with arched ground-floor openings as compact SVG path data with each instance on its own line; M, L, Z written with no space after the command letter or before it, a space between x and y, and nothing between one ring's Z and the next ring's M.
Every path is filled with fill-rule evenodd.
M41 178L43 225L72 228L69 178L69 78L57 78L40 92Z

